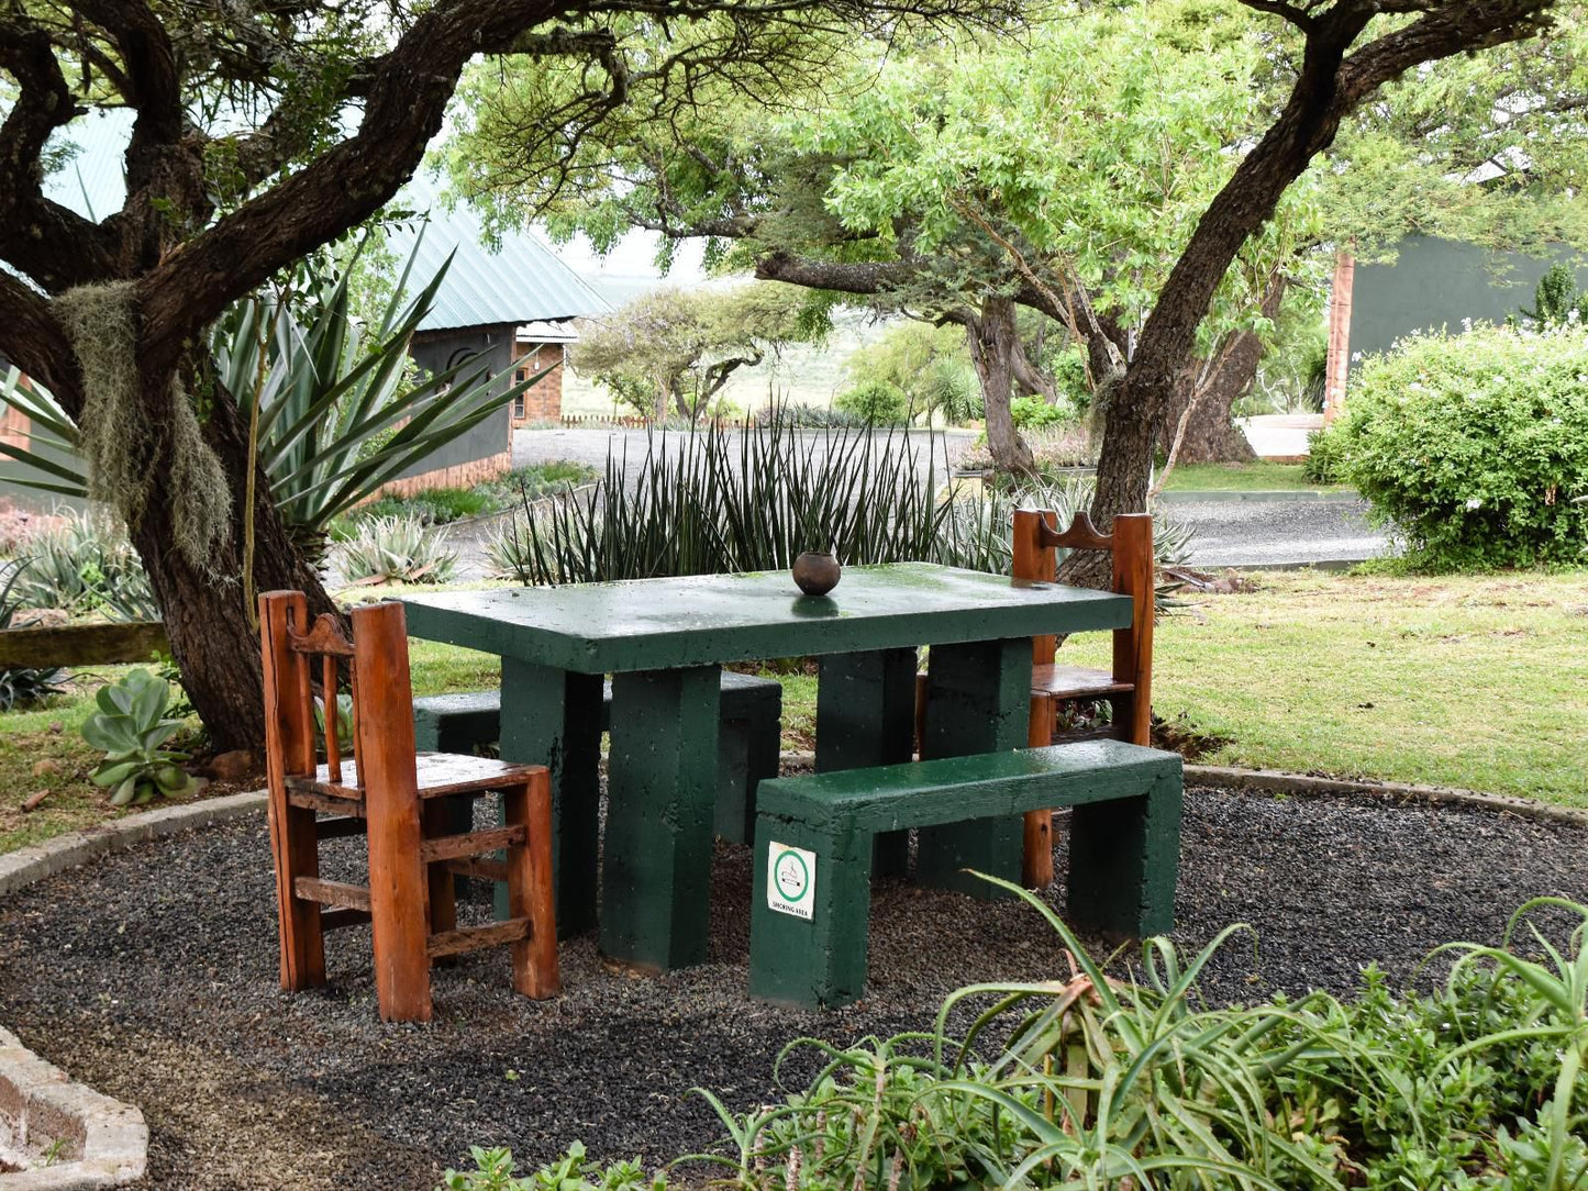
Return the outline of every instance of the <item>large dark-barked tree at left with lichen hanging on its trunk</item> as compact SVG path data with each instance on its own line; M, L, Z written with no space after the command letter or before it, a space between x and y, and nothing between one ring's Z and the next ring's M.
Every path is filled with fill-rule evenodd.
M576 62L548 102L537 160L624 113L797 86L845 22L999 16L962 0L17 0L0 14L0 354L83 432L91 484L127 516L184 686L219 748L264 735L243 578L330 608L272 507L208 326L292 260L381 210L441 127L476 56ZM676 35L649 54L654 30ZM905 22L907 27L907 22ZM638 48L640 52L635 52ZM534 71L530 71L534 75ZM46 197L52 137L132 108L124 206L98 222ZM353 113L349 119L349 113Z

